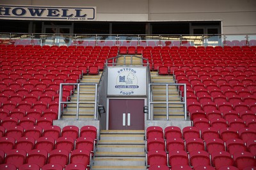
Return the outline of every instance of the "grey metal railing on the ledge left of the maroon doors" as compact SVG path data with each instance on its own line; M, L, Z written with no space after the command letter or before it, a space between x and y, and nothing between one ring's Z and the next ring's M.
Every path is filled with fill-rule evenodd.
M77 91L77 98L76 101L72 102L70 101L63 101L62 97L63 97L63 86L76 86L76 91ZM95 86L95 100L93 102L81 102L80 100L80 88L81 86ZM79 120L79 104L93 104L94 105L94 120L97 120L98 118L98 95L97 95L97 91L98 91L98 84L95 83L61 83L60 84L60 97L59 97L59 109L58 109L58 120L61 119L61 115L62 115L62 109L63 109L63 105L66 104L76 104L76 120Z

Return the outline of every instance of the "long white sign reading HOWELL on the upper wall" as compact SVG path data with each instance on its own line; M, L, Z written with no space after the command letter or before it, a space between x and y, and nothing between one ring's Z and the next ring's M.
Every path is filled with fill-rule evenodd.
M95 20L96 7L0 6L0 19L19 20Z

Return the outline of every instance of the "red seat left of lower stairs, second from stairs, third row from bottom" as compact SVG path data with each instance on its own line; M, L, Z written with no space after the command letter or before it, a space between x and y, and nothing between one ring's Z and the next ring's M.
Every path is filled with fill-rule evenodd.
M74 150L74 139L72 137L59 137L54 148L57 150L67 150L70 152Z

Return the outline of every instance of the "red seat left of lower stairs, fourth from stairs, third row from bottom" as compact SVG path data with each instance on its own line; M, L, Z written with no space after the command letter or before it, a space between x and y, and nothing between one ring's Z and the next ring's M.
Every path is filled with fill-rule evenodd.
M24 150L26 153L33 150L35 139L33 137L20 137L17 139L14 148L16 150Z

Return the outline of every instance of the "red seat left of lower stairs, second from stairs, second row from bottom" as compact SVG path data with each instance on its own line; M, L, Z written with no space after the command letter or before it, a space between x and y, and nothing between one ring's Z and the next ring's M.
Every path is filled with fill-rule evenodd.
M62 167L65 167L68 164L68 160L69 152L67 150L52 150L49 153L48 164L60 164Z

